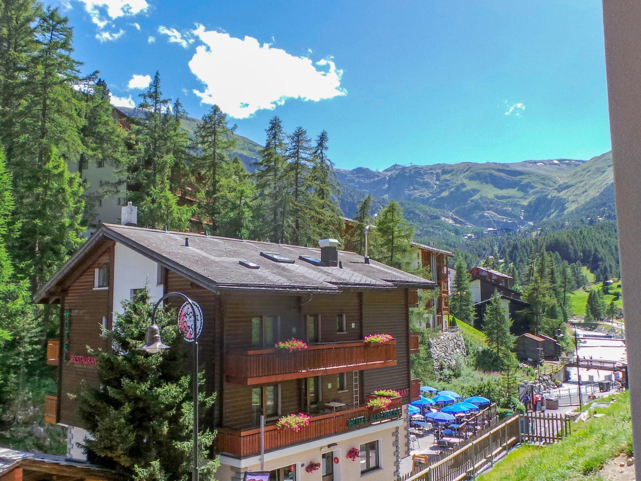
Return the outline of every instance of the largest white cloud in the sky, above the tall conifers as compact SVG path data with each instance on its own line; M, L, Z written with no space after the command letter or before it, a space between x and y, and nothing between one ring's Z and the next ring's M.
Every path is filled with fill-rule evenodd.
M194 90L194 94L201 103L217 104L237 119L258 110L273 110L289 98L320 101L347 94L340 87L343 71L331 58L314 65L310 58L290 55L267 43L261 46L256 38L233 38L207 31L202 25L192 33L204 43L196 47L189 62L191 71L204 83L204 91Z

